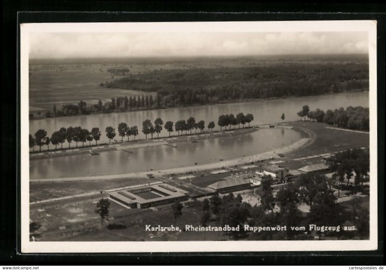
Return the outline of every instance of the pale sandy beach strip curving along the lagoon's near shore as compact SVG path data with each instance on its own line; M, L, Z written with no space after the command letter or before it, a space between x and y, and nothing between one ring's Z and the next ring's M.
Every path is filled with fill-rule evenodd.
M163 170L149 170L145 172L131 172L127 174L114 174L114 175L97 175L97 176L81 176L81 177L61 177L61 178L51 178L51 179L30 179L29 182L76 182L76 181L96 181L96 180L115 180L115 179L125 179L125 178L147 178L149 174L153 177L161 177L170 174L182 174L189 172L199 172L205 170L218 169L227 166L241 165L250 162L256 162L260 160L266 160L271 158L278 158L278 154L288 154L300 148L305 147L309 142L312 142L315 138L301 138L300 140L284 146L273 149L271 151L240 157L237 159L223 160L220 162L214 162L209 164L202 165L193 165L186 167L178 167L171 169Z

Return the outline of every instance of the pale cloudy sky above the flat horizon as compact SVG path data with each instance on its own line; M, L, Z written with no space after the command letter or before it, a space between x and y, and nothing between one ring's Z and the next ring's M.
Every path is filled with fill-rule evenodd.
M368 52L366 32L30 33L31 58Z

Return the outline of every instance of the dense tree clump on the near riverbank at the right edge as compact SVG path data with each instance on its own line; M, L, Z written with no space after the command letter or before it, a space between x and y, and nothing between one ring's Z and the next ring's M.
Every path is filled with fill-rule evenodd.
M300 117L300 120L303 117L304 120L308 117L310 120L324 122L340 128L364 131L369 131L370 128L369 108L362 106L349 106L346 109L340 107L339 109L327 111L317 108L315 111L310 111L310 107L304 105L297 115Z

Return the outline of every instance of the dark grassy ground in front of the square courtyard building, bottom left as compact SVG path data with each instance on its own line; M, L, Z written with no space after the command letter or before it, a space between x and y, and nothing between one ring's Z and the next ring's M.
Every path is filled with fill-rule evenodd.
M174 219L171 205L151 209L127 209L111 201L110 220L101 225L95 214L96 204L90 200L32 211L31 219L41 223L35 233L36 241L193 241L230 240L218 232L188 232L185 224L200 225L201 210L195 207L182 209L182 216ZM48 216L47 216L48 214ZM40 216L39 216L40 215ZM47 221L44 221L43 218ZM120 224L122 229L108 229L107 224ZM146 231L146 225L178 226L181 232ZM214 226L212 221L210 225ZM65 228L63 228L63 226ZM61 227L61 229L59 229Z

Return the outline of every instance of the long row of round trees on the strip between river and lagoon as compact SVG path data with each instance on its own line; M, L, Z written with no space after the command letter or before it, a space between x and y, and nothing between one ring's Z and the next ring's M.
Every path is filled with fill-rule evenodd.
M237 114L236 117L234 117L233 114L230 115L220 115L218 117L218 125L222 127L234 125L243 125L252 122L253 115L248 113L244 116L243 113ZM212 131L215 127L215 122L211 121L208 123L207 128L208 130ZM178 135L183 135L183 132L185 131L187 134L190 132L192 133L192 130L195 129L195 134L197 133L197 130L200 130L200 133L202 133L205 130L205 121L200 120L196 122L195 118L193 116L189 117L187 120L179 120L175 124L172 121L167 121L165 124L161 118L157 118L154 121L154 125L151 122L151 120L146 119L142 122L142 133L146 136L151 135L151 138L153 138L154 133L157 133L157 138L159 138L159 133L162 132L163 128L167 132L169 132L169 137L171 136L171 132L174 132L174 129L176 132L178 132ZM174 128L174 129L173 129ZM127 123L122 122L118 124L118 135L121 137L121 141L123 142L123 138L127 136L127 141L129 142L130 137L135 137L138 135L138 127L132 126L129 127ZM109 126L105 129L106 137L109 139L109 142L111 143L111 140L115 138L117 133L115 132L115 128ZM100 140L101 132L99 128L95 127L92 128L91 131L89 131L86 128L82 127L68 127L68 128L60 128L58 131L55 131L52 133L51 137L47 136L47 132L44 129L39 129L34 136L31 134L29 135L29 147L33 149L35 145L39 146L39 151L41 151L41 147L43 145L47 145L49 150L49 144L52 143L55 145L55 149L57 149L57 146L59 143L61 144L61 148L63 148L63 143L68 142L68 148L71 148L71 142L76 143L76 147L78 147L78 142L82 143L82 147L85 145L85 142L89 142L91 146L91 142L95 140L95 145L98 145L98 140Z

